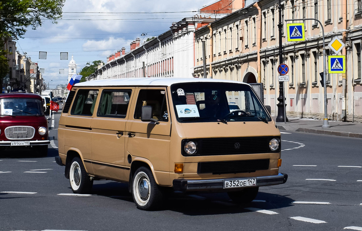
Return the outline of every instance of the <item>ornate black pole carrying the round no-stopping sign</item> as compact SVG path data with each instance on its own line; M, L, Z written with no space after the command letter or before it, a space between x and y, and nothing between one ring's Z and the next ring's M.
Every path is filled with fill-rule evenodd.
M278 9L279 9L279 24L278 24L278 29L279 29L279 64L283 63L283 43L282 43L282 29L283 29L283 23L282 23L282 3L281 0L279 0L279 5L278 5ZM276 85L276 83L275 83ZM288 118L285 115L285 110L286 110L286 103L285 103L285 97L284 97L284 82L279 82L279 97L278 97L278 101L279 103L277 104L278 106L278 116L275 119L276 122L288 122ZM285 115L285 117L284 117Z

